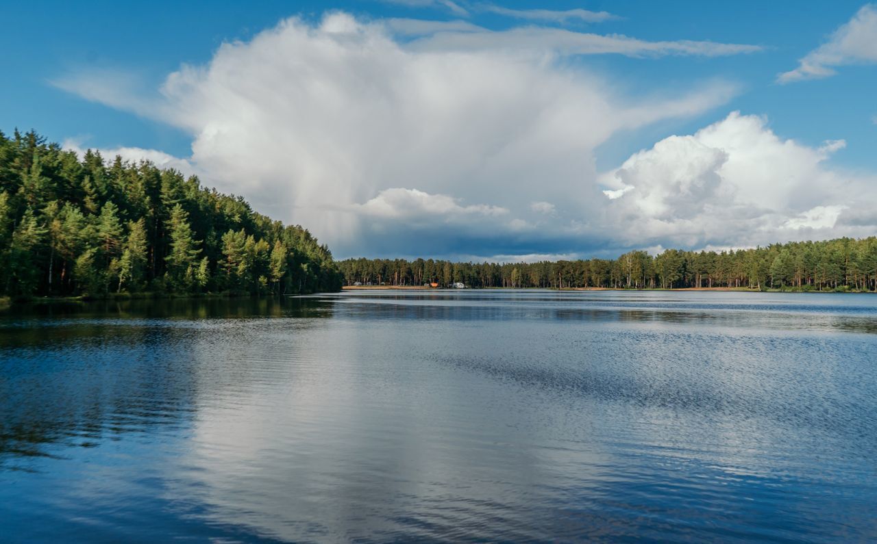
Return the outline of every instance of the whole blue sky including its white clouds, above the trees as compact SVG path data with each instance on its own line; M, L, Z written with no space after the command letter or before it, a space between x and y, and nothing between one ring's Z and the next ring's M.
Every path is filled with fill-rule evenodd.
M336 258L877 234L877 4L0 4L0 130L149 159Z

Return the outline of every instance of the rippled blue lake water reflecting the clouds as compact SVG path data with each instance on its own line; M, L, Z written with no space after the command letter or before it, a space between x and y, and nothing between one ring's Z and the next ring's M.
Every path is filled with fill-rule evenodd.
M877 297L0 312L0 541L877 540Z

